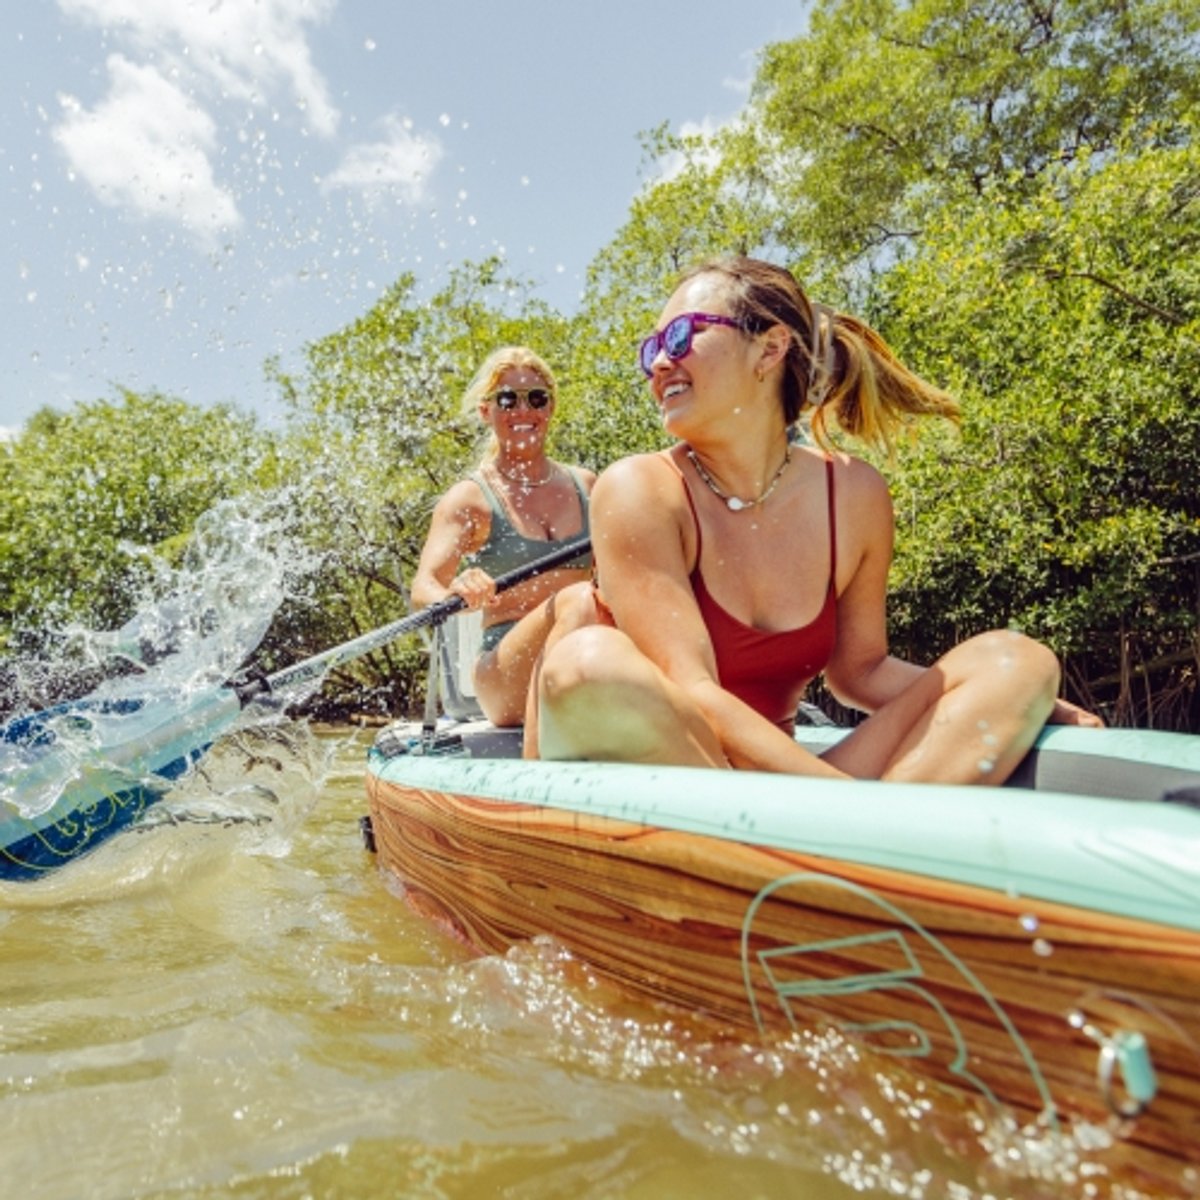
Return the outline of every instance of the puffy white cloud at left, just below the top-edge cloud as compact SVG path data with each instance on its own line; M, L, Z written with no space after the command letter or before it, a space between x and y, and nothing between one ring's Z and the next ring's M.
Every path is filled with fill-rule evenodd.
M181 222L202 240L240 221L212 175L212 118L157 68L108 59L109 92L94 109L60 96L54 140L107 204Z

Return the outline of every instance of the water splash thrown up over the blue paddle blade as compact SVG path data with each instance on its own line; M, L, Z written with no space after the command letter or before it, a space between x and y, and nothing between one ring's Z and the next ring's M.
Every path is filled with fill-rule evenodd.
M24 670L61 682L76 671L100 682L44 710L34 700L34 712L0 730L0 805L26 821L67 796L72 812L133 794L144 806L238 721L238 697L223 684L317 565L289 534L293 508L286 492L216 505L178 566L151 556L150 582L120 629L47 636L18 678Z

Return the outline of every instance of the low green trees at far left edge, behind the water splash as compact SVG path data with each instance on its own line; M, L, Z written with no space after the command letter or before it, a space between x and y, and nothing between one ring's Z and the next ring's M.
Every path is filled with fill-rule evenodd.
M0 455L0 648L67 622L128 618L146 552L270 469L252 416L121 389L68 413L43 408Z

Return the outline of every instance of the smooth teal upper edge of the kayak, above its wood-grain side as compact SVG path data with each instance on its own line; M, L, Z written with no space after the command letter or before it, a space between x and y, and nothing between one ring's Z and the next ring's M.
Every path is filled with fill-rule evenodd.
M804 730L816 748L844 731ZM1200 786L1200 738L1055 728L1043 774ZM373 751L380 779L910 871L1200 930L1200 809L1030 787L822 780L625 763ZM1157 784L1156 784L1157 788ZM1156 793L1158 794L1158 793Z

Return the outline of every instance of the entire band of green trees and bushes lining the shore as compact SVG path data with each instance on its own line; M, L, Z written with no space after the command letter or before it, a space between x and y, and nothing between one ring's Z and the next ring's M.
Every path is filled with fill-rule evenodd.
M896 653L1018 628L1109 724L1200 732L1198 124L1186 0L1068 0L1052 20L1015 0L818 0L805 35L762 48L737 121L644 136L652 169L577 312L500 257L403 274L298 370L266 365L282 428L118 388L0 443L0 707L65 698L86 672L23 665L152 602L233 498L274 497L310 559L250 667L403 616L433 500L480 452L461 397L481 350L546 348L553 456L656 449L637 340L680 268L732 251L794 266L961 404L960 428L877 460ZM419 712L424 685L414 637L308 710Z

